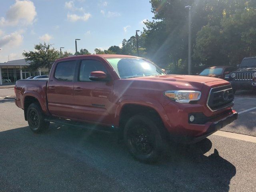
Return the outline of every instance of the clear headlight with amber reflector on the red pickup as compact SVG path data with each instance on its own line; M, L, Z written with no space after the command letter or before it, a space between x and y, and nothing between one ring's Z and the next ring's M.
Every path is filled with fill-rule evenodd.
M200 91L190 91L190 90L175 90L175 91L165 91L164 96L179 102L188 103L190 101L197 101L201 97Z

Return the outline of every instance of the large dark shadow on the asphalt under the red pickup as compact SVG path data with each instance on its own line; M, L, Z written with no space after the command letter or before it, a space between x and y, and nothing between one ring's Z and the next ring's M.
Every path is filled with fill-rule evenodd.
M236 168L210 140L170 146L156 164L128 154L114 134L51 124L42 134L28 127L0 132L3 191L222 191Z

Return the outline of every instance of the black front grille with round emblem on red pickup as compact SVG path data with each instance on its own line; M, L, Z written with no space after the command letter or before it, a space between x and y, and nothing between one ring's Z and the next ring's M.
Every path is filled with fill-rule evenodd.
M231 85L212 88L210 90L207 106L211 111L228 107L234 103L234 93Z

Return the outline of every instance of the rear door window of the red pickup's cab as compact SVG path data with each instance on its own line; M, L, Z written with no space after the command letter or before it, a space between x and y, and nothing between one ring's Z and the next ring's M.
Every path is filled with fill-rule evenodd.
M54 78L59 81L73 81L76 61L59 62L56 66Z

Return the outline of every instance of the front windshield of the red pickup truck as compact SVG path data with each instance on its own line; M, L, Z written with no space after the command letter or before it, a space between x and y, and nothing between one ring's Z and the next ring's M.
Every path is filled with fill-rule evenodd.
M165 75L156 65L141 58L106 58L121 79Z

